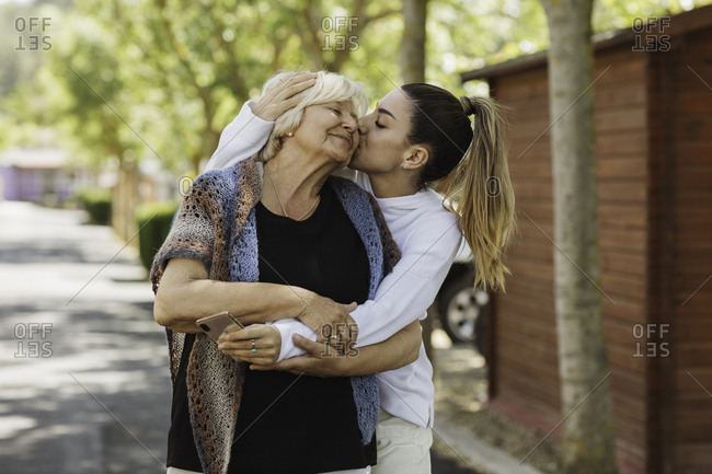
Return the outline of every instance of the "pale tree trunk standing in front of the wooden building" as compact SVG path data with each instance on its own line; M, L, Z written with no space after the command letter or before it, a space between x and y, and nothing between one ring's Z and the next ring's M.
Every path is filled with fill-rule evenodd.
M562 417L566 417L562 472L608 474L617 470L601 294L597 288L598 217L590 88L593 1L541 3L551 38L549 108L551 119L555 120L551 134L558 245L554 296ZM587 92L579 97L584 91Z

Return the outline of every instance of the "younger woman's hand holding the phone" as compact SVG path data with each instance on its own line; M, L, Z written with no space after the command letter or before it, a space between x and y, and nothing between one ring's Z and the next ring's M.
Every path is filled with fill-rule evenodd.
M282 350L282 335L268 324L251 324L244 330L234 326L220 337L218 349L241 362L273 363Z

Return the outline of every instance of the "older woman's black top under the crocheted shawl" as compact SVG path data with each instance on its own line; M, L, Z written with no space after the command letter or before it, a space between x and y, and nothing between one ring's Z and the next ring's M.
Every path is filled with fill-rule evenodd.
M368 299L364 244L329 185L307 220L256 207L260 281L307 288L334 301ZM174 386L168 465L202 471L188 420L185 367ZM248 371L229 473L320 473L376 463L364 447L351 379Z

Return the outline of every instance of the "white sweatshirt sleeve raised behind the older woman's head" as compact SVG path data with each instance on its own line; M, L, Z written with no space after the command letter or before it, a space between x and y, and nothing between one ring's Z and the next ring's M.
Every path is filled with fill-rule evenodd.
M254 115L252 113L254 104L254 101L245 102L234 120L225 127L218 149L213 153L205 171L234 166L265 146L275 123L263 120Z

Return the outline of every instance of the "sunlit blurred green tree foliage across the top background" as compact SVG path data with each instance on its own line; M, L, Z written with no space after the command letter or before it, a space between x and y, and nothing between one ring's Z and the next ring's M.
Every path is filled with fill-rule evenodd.
M37 127L51 127L95 164L149 158L197 172L241 103L278 70L341 71L363 81L374 102L401 82L399 0L54 3L0 5L10 23L53 18L49 51L0 51L10 65L0 73L0 125L13 130L0 148L26 144ZM682 7L690 4L600 0L595 30ZM537 0L429 0L426 27L426 80L456 94L475 92L471 83L461 90L459 71L548 47ZM0 35L16 41L16 32Z

